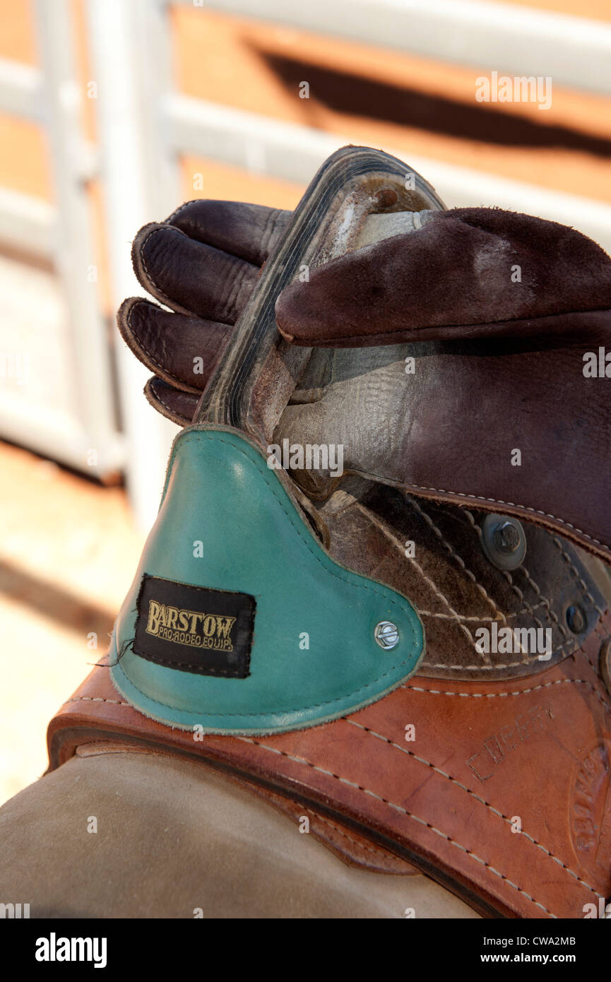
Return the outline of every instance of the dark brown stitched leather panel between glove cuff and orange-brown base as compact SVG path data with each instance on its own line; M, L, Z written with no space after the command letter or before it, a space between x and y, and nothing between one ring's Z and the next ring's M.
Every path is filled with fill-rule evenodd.
M411 598L426 634L418 674L492 681L544 672L579 647L603 613L599 587L611 593L611 584L602 564L553 533L525 524L525 563L514 573L502 572L483 553L478 513L362 481L352 487L356 497L340 490L320 509L330 551ZM410 542L414 556L406 555ZM567 624L571 606L583 612L577 635ZM475 630L493 621L499 627L549 629L551 658L520 651L479 654Z

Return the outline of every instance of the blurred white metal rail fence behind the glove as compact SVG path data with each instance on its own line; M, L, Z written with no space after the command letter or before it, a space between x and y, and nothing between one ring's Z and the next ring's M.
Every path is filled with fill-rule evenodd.
M467 0L177 0L177 6L331 34L474 72L538 76L544 66L554 83L611 93L611 25L578 17ZM129 244L140 225L180 201L185 154L301 185L346 140L179 91L170 5L163 0L84 0L97 117L93 144L83 128L73 5L35 0L33 10L39 67L0 60L0 111L46 129L54 203L0 190L0 242L44 257L59 274L68 325L60 358L65 401L41 404L17 384L0 387L0 435L102 478L125 470L146 525L175 427L146 407L141 387L147 373L133 356L123 345L113 354L108 313L95 286L89 183L99 179L103 187L105 258L116 306L140 292ZM420 156L408 163L450 205L533 212L574 225L611 249L611 206L589 199L587 189L551 191ZM17 355L19 342L14 345Z

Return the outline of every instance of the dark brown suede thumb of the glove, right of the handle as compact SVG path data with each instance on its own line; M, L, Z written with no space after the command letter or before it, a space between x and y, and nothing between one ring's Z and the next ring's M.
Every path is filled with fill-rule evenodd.
M282 335L355 348L537 336L570 331L567 314L611 316L611 259L576 229L500 208L424 214L411 235L381 235L287 287L276 303Z

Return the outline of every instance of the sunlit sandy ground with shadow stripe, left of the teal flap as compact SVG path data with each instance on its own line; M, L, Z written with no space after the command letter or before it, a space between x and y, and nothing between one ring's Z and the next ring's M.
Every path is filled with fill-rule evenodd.
M45 770L47 722L104 653L142 537L122 488L3 443L0 473L2 803Z

